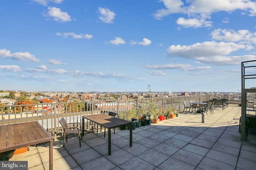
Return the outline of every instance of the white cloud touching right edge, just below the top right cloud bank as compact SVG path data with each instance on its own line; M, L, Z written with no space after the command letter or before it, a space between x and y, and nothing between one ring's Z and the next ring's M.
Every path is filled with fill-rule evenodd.
M232 41L240 43L256 44L256 32L252 33L248 29L234 31L233 29L214 29L211 32L212 39L220 41Z

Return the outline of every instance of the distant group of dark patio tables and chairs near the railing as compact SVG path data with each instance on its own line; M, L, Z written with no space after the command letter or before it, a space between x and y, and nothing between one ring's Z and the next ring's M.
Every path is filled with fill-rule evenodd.
M214 109L216 108L222 108L224 110L226 107L228 107L228 99L221 98L217 99L214 98L212 100L206 101L206 102L193 102L192 100L189 101L182 101L184 104L183 112L188 110L189 113L197 112L197 113L206 113L210 111L210 114L214 113Z

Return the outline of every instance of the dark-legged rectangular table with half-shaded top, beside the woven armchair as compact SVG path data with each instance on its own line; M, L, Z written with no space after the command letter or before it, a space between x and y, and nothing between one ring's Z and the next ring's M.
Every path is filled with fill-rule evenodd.
M121 125L130 125L130 147L132 147L132 122L119 119L105 114L94 114L82 116L82 135L84 135L84 119L92 121L108 129L108 155L111 155L111 131L110 129L120 127Z

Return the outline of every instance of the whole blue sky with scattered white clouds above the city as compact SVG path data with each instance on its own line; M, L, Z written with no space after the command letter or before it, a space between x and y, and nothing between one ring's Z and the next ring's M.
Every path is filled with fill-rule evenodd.
M256 60L252 0L1 0L0 23L0 90L238 92Z

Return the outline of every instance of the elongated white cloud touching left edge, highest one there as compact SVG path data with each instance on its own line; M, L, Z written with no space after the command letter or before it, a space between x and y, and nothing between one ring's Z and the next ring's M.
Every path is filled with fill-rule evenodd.
M0 49L0 57L2 58L11 58L14 60L20 60L20 61L34 61L39 62L39 59L36 59L36 57L29 52L17 52L17 53L11 53L11 51L6 49Z

